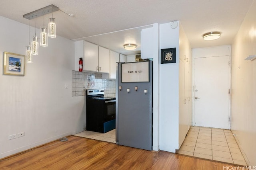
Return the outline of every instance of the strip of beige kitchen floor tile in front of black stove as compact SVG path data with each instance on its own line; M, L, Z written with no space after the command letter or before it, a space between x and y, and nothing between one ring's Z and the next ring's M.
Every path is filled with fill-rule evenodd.
M106 133L83 131L83 132L75 134L74 136L86 137L86 138L90 138L90 139L96 139L99 141L116 143L116 129L113 129L112 131L108 131Z

